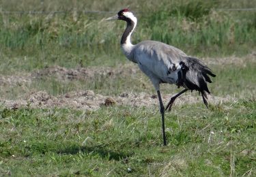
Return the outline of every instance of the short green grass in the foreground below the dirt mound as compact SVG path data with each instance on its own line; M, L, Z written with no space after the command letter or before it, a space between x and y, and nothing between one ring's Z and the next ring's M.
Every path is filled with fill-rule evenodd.
M242 176L251 170L254 176L255 108L255 99L210 106L210 110L202 104L175 108L166 114L168 146L161 146L157 108L113 107L96 112L1 108L0 172L229 176L233 170L233 175Z

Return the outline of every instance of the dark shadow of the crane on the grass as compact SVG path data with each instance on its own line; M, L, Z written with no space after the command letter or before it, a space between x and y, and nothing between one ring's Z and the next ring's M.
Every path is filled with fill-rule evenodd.
M58 154L66 155L76 155L78 153L86 153L91 155L100 155L100 157L109 160L119 161L120 159L126 159L126 157L131 157L134 153L113 151L109 150L105 146L71 146L69 148L59 150Z

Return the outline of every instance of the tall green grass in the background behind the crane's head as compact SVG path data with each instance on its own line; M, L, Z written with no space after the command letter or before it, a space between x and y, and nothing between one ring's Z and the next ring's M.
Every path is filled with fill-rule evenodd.
M199 57L244 55L255 51L256 13L216 11L222 7L252 7L251 1L162 1L152 5L137 2L138 27L132 36L134 44L153 39L181 48ZM124 22L101 22L112 14L83 14L82 10L118 11L125 4L102 1L65 3L27 1L14 5L3 3L3 10L66 10L66 14L1 14L0 43L3 71L16 65L31 71L48 65L65 67L117 65L126 60L119 47ZM64 5L64 7L63 7ZM66 6L65 6L66 5ZM110 7L108 5L111 5ZM34 6L34 7L33 7ZM95 7L94 7L95 6ZM33 8L32 8L33 7ZM38 7L38 8L37 8ZM67 8L69 7L69 8ZM77 15L74 15L76 14ZM10 61L9 59L13 60Z

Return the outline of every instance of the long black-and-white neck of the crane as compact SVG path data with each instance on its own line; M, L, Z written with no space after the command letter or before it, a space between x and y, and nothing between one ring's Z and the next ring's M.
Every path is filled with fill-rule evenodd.
M132 43L130 42L130 35L132 35L132 31L135 29L137 25L137 19L134 18L133 20L131 20L130 18L127 18L126 22L127 26L126 30L124 31L124 34L122 35L121 45L132 45Z

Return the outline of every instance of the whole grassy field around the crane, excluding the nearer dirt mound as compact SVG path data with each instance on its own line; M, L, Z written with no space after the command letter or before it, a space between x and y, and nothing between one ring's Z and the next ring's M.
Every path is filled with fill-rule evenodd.
M139 18L134 44L176 46L217 75L210 84L217 101L208 110L191 100L166 113L167 146L157 106L29 105L38 91L56 98L86 90L156 95L120 50L124 22L101 21L124 7ZM255 1L1 1L0 174L256 176L256 12L221 10L251 7ZM10 100L27 106L8 107Z

